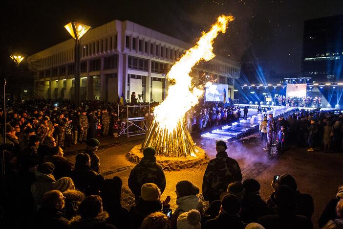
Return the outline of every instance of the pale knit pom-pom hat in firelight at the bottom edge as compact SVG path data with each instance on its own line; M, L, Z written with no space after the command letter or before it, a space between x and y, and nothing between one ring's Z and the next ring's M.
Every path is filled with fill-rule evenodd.
M177 218L177 229L201 229L201 215L198 210L190 210L179 215Z

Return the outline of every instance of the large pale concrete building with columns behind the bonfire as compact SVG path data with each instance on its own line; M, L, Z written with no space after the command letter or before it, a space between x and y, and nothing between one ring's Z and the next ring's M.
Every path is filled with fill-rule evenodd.
M81 99L117 101L124 93L143 94L144 101L162 101L168 89L165 73L191 47L178 39L129 21L112 21L89 30L81 39ZM35 94L74 98L74 45L69 39L28 57L37 74ZM228 84L234 96L240 66L215 57L193 68L195 81L208 74ZM196 83L196 82L195 82Z

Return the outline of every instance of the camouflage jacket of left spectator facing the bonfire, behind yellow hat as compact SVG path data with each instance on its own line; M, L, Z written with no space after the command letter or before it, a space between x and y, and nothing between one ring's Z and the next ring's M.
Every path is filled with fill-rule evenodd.
M141 187L145 183L156 184L161 193L166 188L166 177L160 165L156 164L156 158L142 160L134 166L129 176L129 188L131 192L137 197L141 195Z

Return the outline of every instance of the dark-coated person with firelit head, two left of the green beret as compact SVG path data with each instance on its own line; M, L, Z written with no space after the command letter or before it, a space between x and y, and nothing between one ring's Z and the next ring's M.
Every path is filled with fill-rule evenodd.
M44 162L51 162L55 165L53 175L56 180L62 177L69 177L71 173L73 164L63 155L63 149L60 146L55 146L50 149L50 155L44 157Z

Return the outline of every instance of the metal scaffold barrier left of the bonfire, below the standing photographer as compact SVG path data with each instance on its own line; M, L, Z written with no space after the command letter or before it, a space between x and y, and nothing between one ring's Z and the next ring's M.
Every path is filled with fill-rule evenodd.
M138 114L141 114L143 108L148 108L148 114L150 114L150 105L144 106L118 106L118 115L121 120L120 135L127 135L127 137L144 135L149 128L148 117L145 116L133 116L136 109L139 109ZM124 110L123 110L124 109Z

